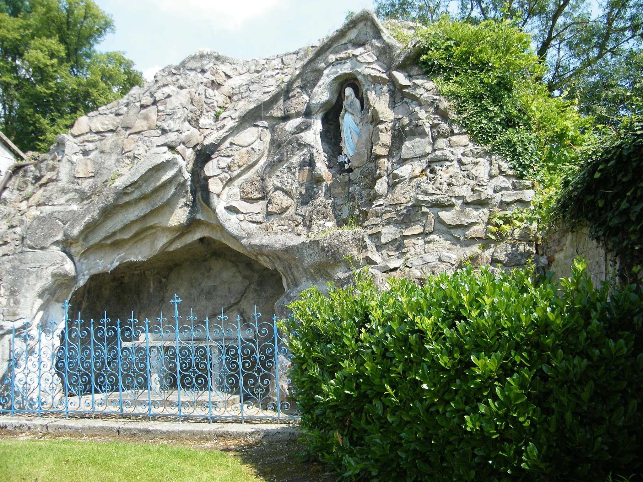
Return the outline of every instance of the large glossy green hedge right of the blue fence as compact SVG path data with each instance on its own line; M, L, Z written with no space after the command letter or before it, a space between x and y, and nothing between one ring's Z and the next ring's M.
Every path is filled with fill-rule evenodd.
M640 472L640 289L471 267L310 289L285 322L311 454L347 479L602 481ZM559 289L561 288L561 289Z

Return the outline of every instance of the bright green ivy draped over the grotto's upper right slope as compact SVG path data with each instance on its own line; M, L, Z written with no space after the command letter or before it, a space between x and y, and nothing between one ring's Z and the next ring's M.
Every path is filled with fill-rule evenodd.
M509 22L472 25L444 17L419 37L419 64L480 143L523 177L545 180L570 163L570 147L583 142L591 120L550 96L529 35Z

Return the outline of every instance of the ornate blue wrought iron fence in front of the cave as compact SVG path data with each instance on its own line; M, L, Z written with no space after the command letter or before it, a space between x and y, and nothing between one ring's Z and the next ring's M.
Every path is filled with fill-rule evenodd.
M276 316L230 321L179 315L170 321L132 317L98 322L65 318L57 325L26 323L12 332L0 411L15 415L128 415L201 419L288 419L290 353Z

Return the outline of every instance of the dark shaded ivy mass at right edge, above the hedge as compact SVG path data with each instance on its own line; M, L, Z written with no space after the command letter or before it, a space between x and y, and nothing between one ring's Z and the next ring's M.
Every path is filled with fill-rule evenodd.
M581 159L555 215L570 228L586 224L590 237L619 257L620 274L633 280L643 266L643 120L624 121L584 148Z

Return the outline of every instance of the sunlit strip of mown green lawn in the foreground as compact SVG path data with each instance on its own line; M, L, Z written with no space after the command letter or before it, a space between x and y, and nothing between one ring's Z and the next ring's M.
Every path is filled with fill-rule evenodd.
M255 482L253 470L221 451L80 440L0 440L0 481Z

